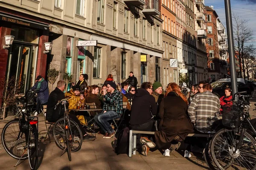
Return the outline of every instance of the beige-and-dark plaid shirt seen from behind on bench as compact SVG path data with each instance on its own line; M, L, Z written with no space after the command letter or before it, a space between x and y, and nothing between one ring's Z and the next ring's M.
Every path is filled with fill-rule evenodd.
M196 94L188 108L190 120L200 132L204 132L213 122L220 119L219 111L220 99L210 91Z

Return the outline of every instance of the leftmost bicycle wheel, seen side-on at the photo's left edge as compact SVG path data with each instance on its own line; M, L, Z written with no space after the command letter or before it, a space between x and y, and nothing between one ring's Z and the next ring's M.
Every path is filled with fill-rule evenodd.
M26 159L28 157L25 133L20 131L18 119L11 120L3 127L2 143L6 152L13 158Z

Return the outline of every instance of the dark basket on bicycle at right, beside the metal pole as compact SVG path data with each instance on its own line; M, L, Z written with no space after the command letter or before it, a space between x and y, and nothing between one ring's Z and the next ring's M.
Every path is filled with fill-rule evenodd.
M236 103L223 106L222 125L227 128L235 129L239 127L242 109Z

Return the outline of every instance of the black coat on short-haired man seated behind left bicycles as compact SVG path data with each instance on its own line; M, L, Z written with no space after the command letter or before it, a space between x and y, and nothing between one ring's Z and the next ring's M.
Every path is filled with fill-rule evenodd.
M65 95L59 88L55 88L55 90L50 93L46 110L46 120L48 122L56 122L60 117L63 116L62 113L59 114L61 111L60 105L58 105L56 110L54 110L55 105L62 99L65 99Z

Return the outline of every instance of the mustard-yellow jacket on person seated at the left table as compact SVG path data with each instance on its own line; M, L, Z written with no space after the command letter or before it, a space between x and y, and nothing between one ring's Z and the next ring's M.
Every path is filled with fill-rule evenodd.
M66 92L65 93L65 97L69 98L69 99L67 99L68 103L69 103L69 106L68 106L68 110L69 111L71 109L76 109L77 108L77 104L79 102L81 102L81 103L84 102L84 99L83 100L80 99L80 95L76 96L74 94L73 89L71 89L70 91ZM85 119L84 119L83 115L77 115L76 117L79 119L81 125L85 125Z

